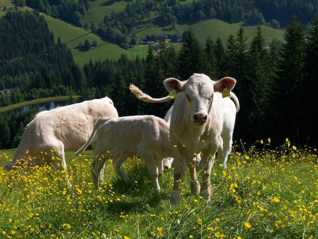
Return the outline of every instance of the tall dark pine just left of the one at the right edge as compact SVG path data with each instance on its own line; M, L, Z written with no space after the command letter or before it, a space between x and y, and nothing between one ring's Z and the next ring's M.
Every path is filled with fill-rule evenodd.
M291 18L286 32L284 33L285 44L281 48L281 56L277 64L276 94L275 106L278 114L280 132L287 135L280 135L280 140L284 137L296 141L298 140L297 130L300 122L303 121L300 114L303 107L301 90L304 82L304 64L305 64L305 35L302 23L297 21L296 17ZM307 84L305 84L307 86ZM279 102L278 105L277 102ZM294 110L291 110L294 109ZM306 132L302 132L305 133ZM301 137L301 135L299 135Z

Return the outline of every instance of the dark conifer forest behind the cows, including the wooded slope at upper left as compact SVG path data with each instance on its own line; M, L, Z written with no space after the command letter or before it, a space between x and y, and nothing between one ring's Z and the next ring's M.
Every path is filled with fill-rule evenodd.
M54 42L38 12L11 11L0 18L0 88L14 90L10 97L0 96L0 107L79 94L81 101L110 97L120 116L163 117L173 102L143 103L129 92L129 83L152 97L162 97L168 94L162 84L168 77L186 80L193 73L204 73L218 80L232 76L237 79L233 92L241 105L234 140L252 144L270 137L271 144L279 146L288 137L296 145L313 146L318 124L318 15L311 25L305 32L303 23L292 17L285 42L273 39L269 48L260 25L250 44L243 28L226 42L208 37L203 44L189 29L180 50L163 43L158 53L149 47L145 59L128 60L122 55L117 61L91 61L81 68L60 40ZM2 113L0 148L17 147L35 113Z

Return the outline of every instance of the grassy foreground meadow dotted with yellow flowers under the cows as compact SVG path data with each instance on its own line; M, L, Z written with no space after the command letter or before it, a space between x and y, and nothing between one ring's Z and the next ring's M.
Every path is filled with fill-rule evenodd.
M234 146L225 170L214 163L207 202L190 195L182 179L182 199L169 205L173 171L159 178L153 192L144 161L125 164L129 182L106 163L100 191L93 189L92 151L74 158L66 152L67 172L46 166L10 173L3 164L14 150L0 151L0 228L3 238L317 238L317 151L291 146L276 150L270 140L246 149ZM262 148L263 147L263 148ZM51 152L49 152L51 153ZM56 160L55 158L53 160ZM73 187L68 188L64 175Z

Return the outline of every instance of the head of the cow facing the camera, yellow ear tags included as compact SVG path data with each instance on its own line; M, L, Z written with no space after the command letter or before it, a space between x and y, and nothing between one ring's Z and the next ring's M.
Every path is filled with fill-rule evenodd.
M168 78L164 80L163 84L169 92L174 88L177 93L183 92L186 94L186 107L191 121L195 125L203 125L208 121L213 94L222 93L224 87L231 91L236 84L236 80L231 77L224 77L215 82L204 74L193 74L187 81L182 82L175 78Z

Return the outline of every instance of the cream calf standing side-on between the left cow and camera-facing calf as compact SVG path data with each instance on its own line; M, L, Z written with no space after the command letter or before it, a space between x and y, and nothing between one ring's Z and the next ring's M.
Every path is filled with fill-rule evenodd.
M113 166L117 173L129 180L123 163L138 154L145 160L152 178L155 192L160 192L159 172L163 170L163 159L172 156L169 144L169 125L153 115L138 115L119 118L100 118L87 142L74 155L84 152L97 134L92 175L96 189L103 180L105 161L113 155Z

